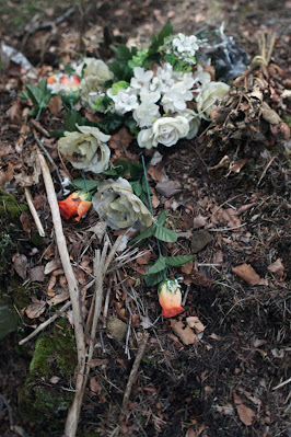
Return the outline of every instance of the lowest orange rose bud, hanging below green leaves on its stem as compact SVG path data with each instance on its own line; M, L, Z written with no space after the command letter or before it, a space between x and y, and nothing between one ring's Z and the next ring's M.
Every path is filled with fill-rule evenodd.
M165 279L159 285L159 301L163 309L164 318L173 318L182 313L184 308L182 303L182 294L177 280Z

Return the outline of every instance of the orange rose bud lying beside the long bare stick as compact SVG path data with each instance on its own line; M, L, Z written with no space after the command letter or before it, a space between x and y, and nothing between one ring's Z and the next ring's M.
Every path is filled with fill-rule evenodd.
M58 200L61 217L67 220L73 218L75 221L80 221L91 208L91 199L90 193L74 192L65 200Z

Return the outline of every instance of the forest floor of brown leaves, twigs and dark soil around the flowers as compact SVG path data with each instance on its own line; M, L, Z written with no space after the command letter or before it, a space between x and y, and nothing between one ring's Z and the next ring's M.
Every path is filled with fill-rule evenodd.
M275 0L100 0L84 2L84 15L75 7L67 19L69 1L39 1L38 10L34 3L11 0L0 5L2 42L34 66L28 73L14 62L2 66L0 79L0 198L3 205L16 205L16 212L0 205L0 292L20 318L18 330L1 340L0 435L62 436L75 381L70 313L19 346L69 297L60 292L66 281L35 159L36 142L45 139L57 168L66 170L48 134L61 126L63 113L47 110L33 123L18 92L79 54L107 61L110 44L148 45L150 35L170 20L176 33L186 34L224 22L226 35L251 59L258 55L263 31L276 33L275 46L267 69L253 71L232 88L231 127L217 114L195 139L159 147L162 161L148 169L154 215L166 209L168 225L179 235L163 250L168 255L196 254L177 268L184 277L185 312L161 318L156 287L141 279L149 260L143 250L156 252L151 242L139 257L107 275L108 313L101 317L78 436L115 435L132 363L148 332L120 435L290 437L291 2L281 1L278 8ZM255 78L263 84L259 91ZM279 122L263 119L263 101ZM125 130L117 135L116 154L126 150L136 157L137 143L130 143ZM56 169L49 165L58 193ZM78 172L72 170L71 176ZM174 192L170 182L175 182ZM25 186L44 238L26 207ZM80 288L86 289L84 307L94 288L88 286L94 251L103 246L93 230L97 221L91 210L78 223L63 222ZM117 234L108 231L112 241ZM199 322L196 330L193 318ZM106 327L106 320L119 323L117 331L125 329L125 335Z

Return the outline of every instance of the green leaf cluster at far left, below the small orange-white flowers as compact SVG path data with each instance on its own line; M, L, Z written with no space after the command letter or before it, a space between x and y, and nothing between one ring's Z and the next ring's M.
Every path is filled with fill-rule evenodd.
M42 79L37 85L26 85L26 90L19 93L19 97L23 100L31 100L33 102L33 110L28 112L33 117L39 116L50 101L51 92L47 88L46 78Z

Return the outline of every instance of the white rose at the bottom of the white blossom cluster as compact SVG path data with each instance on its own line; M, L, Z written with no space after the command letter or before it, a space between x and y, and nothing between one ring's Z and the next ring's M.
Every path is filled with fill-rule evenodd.
M151 128L141 130L138 135L139 147L151 149L159 143L166 147L175 145L181 138L185 138L189 133L189 123L185 117L158 118Z

